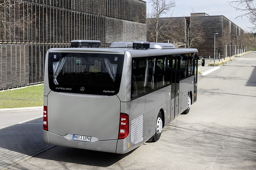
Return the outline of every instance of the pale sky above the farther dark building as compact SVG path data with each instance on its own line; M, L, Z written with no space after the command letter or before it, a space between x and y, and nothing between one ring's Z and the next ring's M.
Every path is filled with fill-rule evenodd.
M143 0L147 3L147 13L151 11L150 0ZM244 31L251 32L252 24L249 19L237 16L242 15L244 12L237 11L236 8L231 7L228 1L232 0L174 0L176 7L173 8L172 17L190 16L190 13L207 13L210 16L224 15L227 19L232 21L238 27L244 29ZM170 15L163 16L170 17Z

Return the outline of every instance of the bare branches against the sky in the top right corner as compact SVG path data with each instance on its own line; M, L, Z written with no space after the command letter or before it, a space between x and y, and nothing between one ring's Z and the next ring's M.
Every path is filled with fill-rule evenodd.
M236 8L238 11L244 12L244 14L237 16L243 17L246 16L249 18L250 22L254 25L253 27L249 27L252 30L256 29L256 1L255 0L235 0L229 1L230 6Z

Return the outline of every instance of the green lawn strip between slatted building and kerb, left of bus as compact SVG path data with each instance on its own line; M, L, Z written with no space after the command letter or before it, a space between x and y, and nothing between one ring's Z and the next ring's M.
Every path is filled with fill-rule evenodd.
M0 108L43 106L43 100L44 84L0 91Z

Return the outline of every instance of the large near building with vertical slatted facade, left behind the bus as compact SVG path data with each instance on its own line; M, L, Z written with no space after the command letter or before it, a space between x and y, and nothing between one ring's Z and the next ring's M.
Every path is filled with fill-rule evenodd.
M142 0L0 0L0 90L44 81L49 48L146 40ZM4 4L4 5L3 5Z

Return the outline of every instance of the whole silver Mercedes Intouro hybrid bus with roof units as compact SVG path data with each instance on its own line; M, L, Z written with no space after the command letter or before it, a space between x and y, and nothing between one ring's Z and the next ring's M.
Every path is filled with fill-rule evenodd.
M44 72L43 141L125 154L156 142L197 99L198 51L169 43L73 40L51 48Z

